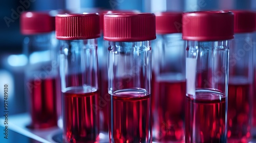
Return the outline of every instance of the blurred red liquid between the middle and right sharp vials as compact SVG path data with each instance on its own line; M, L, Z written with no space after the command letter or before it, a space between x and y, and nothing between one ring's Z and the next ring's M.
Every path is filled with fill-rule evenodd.
M157 99L154 114L156 141L184 140L185 81L164 81L163 77L155 82Z

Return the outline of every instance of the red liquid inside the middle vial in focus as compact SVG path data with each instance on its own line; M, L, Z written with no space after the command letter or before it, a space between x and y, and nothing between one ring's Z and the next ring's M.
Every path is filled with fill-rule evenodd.
M112 96L110 142L152 142L150 95L122 90Z

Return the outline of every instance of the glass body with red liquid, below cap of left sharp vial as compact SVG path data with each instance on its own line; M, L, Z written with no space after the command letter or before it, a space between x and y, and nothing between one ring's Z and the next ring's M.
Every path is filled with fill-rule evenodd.
M63 139L67 142L99 140L96 53L96 39L61 41Z

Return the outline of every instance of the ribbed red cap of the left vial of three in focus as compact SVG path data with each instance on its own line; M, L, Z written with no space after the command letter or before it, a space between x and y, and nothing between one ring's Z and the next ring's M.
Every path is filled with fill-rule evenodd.
M100 36L99 15L96 13L62 14L55 20L57 39L94 39Z

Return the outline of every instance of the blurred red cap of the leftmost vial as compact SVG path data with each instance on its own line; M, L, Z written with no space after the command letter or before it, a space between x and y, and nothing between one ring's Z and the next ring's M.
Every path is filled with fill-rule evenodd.
M33 35L54 31L54 19L49 12L23 12L20 15L20 32Z

